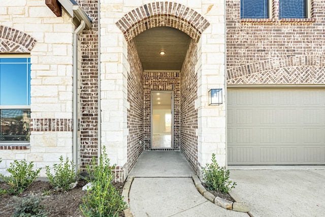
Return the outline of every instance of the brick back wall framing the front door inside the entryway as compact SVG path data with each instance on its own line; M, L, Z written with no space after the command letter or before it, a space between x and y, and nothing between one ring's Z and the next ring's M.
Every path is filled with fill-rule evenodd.
M180 72L144 72L144 148L151 148L151 91L167 90L174 92L174 138L173 149L180 149ZM156 148L157 150L159 148Z

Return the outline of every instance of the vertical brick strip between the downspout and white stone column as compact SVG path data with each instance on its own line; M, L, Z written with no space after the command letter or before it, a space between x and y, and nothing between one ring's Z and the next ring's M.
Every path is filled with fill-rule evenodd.
M80 41L80 167L84 170L98 156L98 0L77 2L92 20L91 29L83 30Z

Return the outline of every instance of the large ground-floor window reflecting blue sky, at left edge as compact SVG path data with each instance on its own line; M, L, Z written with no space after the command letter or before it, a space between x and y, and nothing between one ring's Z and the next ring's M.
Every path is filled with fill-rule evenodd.
M28 142L30 58L0 56L0 142Z

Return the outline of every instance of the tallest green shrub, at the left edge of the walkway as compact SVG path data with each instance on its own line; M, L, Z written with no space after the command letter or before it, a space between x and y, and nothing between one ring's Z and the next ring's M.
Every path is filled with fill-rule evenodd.
M90 166L87 165L89 174L87 181L92 183L92 188L87 191L80 206L86 217L118 216L127 207L112 183L114 173L111 170L106 148L104 147L103 150L98 164L93 158Z

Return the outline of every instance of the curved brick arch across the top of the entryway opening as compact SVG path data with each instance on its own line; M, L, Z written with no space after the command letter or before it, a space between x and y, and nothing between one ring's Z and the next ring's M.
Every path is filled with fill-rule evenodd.
M181 30L198 42L210 23L201 14L182 4L153 2L128 12L116 25L126 41L132 40L149 28L167 26Z

